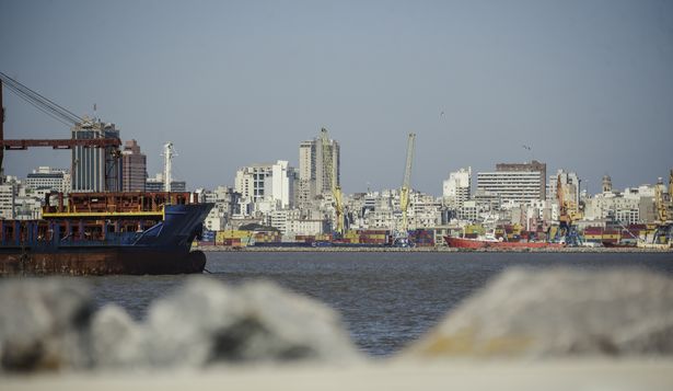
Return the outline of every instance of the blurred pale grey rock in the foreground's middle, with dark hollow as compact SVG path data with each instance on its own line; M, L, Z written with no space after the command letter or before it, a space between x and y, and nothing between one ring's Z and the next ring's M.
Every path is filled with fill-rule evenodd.
M335 311L270 283L193 278L152 304L147 327L154 366L360 357Z

